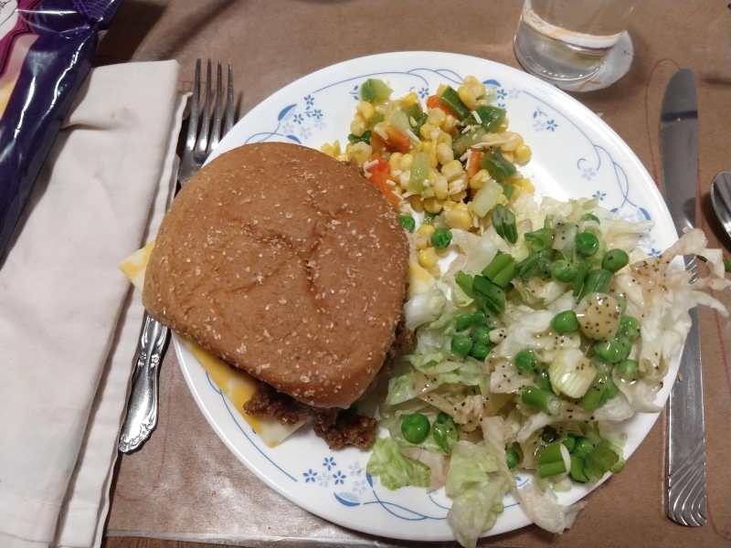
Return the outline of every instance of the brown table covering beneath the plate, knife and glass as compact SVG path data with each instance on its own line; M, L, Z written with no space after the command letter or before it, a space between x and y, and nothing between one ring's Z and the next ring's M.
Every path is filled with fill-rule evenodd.
M349 58L398 50L441 50L516 67L512 49L522 2L259 1L135 2L122 5L99 64L175 58L191 73L197 57L232 60L239 115L291 81ZM630 22L635 58L607 90L575 94L617 131L656 180L662 92L679 67L692 68L700 112L699 224L722 236L708 198L713 175L731 168L729 17L726 2L644 1ZM181 82L181 88L189 81ZM728 253L726 253L726 257ZM725 297L726 304L731 304ZM728 546L731 543L731 372L729 324L701 311L708 523L665 518L664 416L627 468L588 496L574 527L553 536L535 526L486 539L514 546ZM403 545L351 532L303 511L241 465L197 409L174 353L164 360L160 423L136 454L123 456L112 492L108 536L147 536L249 546Z

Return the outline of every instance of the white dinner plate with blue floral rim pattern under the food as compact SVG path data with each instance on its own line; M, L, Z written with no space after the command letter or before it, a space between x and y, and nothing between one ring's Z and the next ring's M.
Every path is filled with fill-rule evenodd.
M416 91L421 100L440 83L455 88L472 75L497 88L497 104L507 110L510 129L530 145L533 157L521 166L540 195L564 200L599 196L599 205L633 220L652 219L655 227L641 246L651 255L676 239L662 196L640 160L617 133L561 90L514 68L481 58L435 52L399 52L357 58L323 68L277 91L249 112L218 145L220 153L251 142L296 142L319 149L323 142L347 142L358 88L367 78L387 81L394 97ZM365 473L369 452L330 450L311 428L301 428L278 447L263 444L221 395L203 367L175 340L185 380L208 423L236 457L272 489L307 511L355 531L392 539L454 539L446 516L444 490L387 490ZM674 380L678 360L667 378ZM672 382L657 398L662 405ZM637 414L626 422L625 456L641 443L657 415ZM631 460L628 466L632 466ZM530 476L520 474L524 485ZM559 501L577 501L596 485L574 486ZM505 511L487 534L530 523L507 496ZM581 516L577 519L581 519Z

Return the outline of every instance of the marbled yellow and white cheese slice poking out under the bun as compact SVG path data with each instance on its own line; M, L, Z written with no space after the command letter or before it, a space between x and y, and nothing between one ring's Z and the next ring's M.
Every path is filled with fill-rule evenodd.
M147 263L150 261L150 253L154 248L154 241L144 248L132 253L128 258L122 260L119 268L124 275L130 279L132 285L142 292L144 285L144 273ZM203 366L211 380L218 386L218 389L226 396L228 401L236 408L238 413L244 417L249 426L261 437L261 440L270 448L273 448L288 437L297 428L305 423L301 420L296 425L282 425L276 418L251 416L244 411L246 404L257 389L257 381L245 371L235 369L216 354L208 352L200 344L178 335L185 347L195 356L199 364Z

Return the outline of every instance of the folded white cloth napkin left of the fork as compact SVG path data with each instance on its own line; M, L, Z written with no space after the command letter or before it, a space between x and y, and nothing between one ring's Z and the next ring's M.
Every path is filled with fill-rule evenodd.
M175 61L94 68L0 267L0 546L99 546L143 317L117 264L175 184Z

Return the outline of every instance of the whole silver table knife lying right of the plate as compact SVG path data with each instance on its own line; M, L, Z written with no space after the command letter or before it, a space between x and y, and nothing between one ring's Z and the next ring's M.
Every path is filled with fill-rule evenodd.
M665 179L665 201L678 235L695 226L698 176L698 107L695 79L687 68L670 80L662 100L660 152ZM695 257L685 257L685 268L697 278ZM668 403L668 517L681 525L703 525L705 513L705 441L703 378L698 310L685 339L679 376Z

